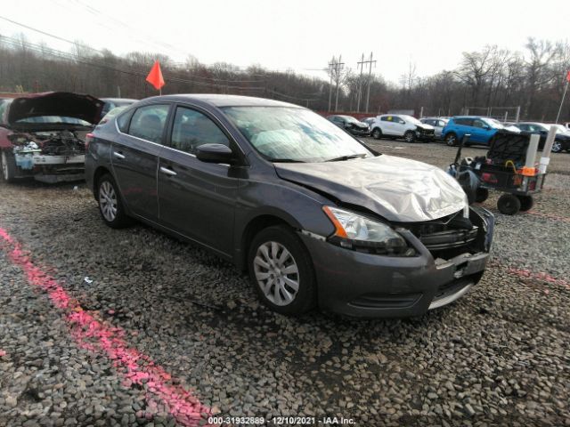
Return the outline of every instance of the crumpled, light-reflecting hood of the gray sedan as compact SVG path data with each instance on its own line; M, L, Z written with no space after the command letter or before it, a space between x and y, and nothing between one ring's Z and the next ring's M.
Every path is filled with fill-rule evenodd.
M467 205L460 184L443 170L415 160L382 155L329 163L276 163L277 174L361 205L391 222L424 222Z

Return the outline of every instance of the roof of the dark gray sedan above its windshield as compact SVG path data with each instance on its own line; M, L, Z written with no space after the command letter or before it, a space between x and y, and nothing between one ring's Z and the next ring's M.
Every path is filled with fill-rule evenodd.
M143 101L194 101L202 104L209 104L214 107L293 107L304 109L289 102L256 98L253 96L224 95L220 93L182 93L176 95L162 95L146 98Z

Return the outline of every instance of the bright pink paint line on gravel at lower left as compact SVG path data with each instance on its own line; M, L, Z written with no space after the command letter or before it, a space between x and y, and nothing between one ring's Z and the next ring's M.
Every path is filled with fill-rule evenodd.
M79 302L73 299L63 286L31 262L20 243L2 228L0 228L0 243L4 244L2 247L6 249L10 260L24 271L28 282L43 289L53 305L63 311L71 335L78 344L110 359L117 372L124 377L124 385L134 383L143 386L149 407L156 409L158 400L167 412L184 426L199 425L201 420L212 415L211 409L202 405L191 391L175 385L171 375L162 367L156 365L139 350L129 347L124 339L126 333L123 329L110 326L83 310ZM0 356L4 355L0 353ZM152 416L142 415L147 418Z

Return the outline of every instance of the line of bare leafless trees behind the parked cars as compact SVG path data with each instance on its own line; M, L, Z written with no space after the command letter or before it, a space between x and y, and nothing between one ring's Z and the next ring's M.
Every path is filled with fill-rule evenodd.
M156 95L145 81L154 60L160 61L167 93L232 93L289 101L326 111L330 82L294 71L273 71L261 66L238 68L218 62L202 64L189 56L176 62L163 53L130 52L118 56L76 42L68 52L33 44L23 35L0 36L0 91L90 93L96 97L142 99ZM379 59L381 67L382 59ZM325 70L327 68L324 68ZM352 68L335 76L340 85L338 110L355 111L358 93L370 83L371 115L391 109L412 109L416 115L489 114L514 119L553 121L570 69L570 44L528 38L524 50L510 51L487 45L463 52L457 68L419 77L410 64L398 84L373 75L361 78ZM335 84L333 83L333 86ZM334 97L334 95L333 95ZM570 121L570 96L560 119ZM363 96L362 96L363 99ZM333 103L334 105L334 103ZM360 111L364 109L363 102Z

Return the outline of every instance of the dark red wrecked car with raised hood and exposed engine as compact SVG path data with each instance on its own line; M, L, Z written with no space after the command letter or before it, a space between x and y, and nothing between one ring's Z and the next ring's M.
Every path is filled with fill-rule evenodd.
M2 178L59 182L84 179L85 135L101 117L90 95L30 93L0 101Z

